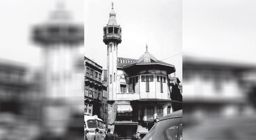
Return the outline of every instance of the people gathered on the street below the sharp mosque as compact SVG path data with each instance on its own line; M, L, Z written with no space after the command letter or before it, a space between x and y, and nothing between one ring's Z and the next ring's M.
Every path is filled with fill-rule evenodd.
M117 133L110 133L110 129L107 129L107 131L103 132L100 131L99 129L95 129L95 136L94 139L89 133L89 130L86 130L86 135L85 135L85 140L118 140L118 134ZM133 133L132 135L132 140L141 140L142 138L140 137L140 132Z

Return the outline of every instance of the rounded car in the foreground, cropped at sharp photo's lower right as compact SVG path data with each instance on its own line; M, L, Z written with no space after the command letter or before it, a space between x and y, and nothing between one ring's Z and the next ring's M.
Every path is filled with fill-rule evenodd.
M158 121L142 140L182 140L182 118Z

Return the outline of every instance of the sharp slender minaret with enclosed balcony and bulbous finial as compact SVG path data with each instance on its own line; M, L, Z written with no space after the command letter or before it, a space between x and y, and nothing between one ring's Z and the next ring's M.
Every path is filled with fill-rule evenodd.
M109 22L103 27L103 42L107 45L107 93L109 100L116 99L117 45L122 42L121 27L117 25L115 11L109 13Z

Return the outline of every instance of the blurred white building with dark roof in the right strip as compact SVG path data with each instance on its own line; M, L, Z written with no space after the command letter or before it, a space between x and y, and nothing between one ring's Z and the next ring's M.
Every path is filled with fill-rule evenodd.
M246 63L183 57L184 121L250 113L245 75L252 70Z

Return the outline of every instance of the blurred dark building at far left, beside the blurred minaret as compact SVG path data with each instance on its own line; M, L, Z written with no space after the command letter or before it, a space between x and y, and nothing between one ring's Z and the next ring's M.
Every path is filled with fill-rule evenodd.
M40 75L24 63L0 60L0 139L30 140L39 133L41 89L37 78Z

